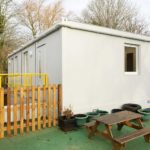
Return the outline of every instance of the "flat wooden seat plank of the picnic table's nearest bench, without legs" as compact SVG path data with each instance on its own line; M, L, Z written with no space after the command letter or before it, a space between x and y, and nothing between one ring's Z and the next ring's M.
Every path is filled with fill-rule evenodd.
M140 130L136 130L128 135L125 135L125 136L122 136L119 138L115 138L115 141L120 144L125 144L131 140L138 138L138 137L149 135L149 134L150 134L150 128L143 128Z

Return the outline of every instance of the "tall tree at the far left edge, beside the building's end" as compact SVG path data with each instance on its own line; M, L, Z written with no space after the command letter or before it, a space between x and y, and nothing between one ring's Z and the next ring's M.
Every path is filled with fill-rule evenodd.
M12 0L0 0L0 73L7 72L7 55L20 44L16 36L14 7Z

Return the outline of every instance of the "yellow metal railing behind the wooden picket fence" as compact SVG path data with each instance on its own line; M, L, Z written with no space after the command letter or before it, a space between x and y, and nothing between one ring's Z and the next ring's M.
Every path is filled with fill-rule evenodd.
M37 85L48 85L48 75L45 73L0 74L0 88Z

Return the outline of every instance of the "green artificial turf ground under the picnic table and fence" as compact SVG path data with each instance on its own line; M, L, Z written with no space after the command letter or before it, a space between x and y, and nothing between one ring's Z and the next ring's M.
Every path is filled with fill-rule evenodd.
M150 123L144 123L150 127ZM101 127L102 129L103 127ZM132 129L124 127L121 131L113 127L113 134L117 137L132 132ZM144 138L138 138L127 143L125 150L149 150L150 143ZM87 138L84 128L64 133L58 128L46 128L40 131L19 134L16 137L0 140L0 150L112 150L109 140L95 136L91 140Z

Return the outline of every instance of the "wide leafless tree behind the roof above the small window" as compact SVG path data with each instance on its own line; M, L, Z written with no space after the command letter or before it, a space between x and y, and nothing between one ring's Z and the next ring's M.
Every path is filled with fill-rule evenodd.
M82 12L81 22L134 33L147 33L148 24L129 0L92 0Z

